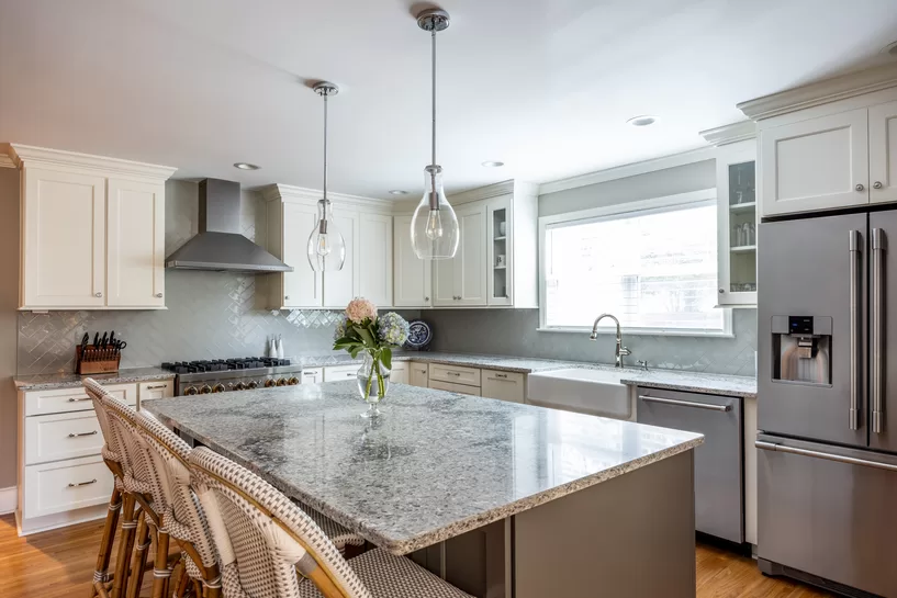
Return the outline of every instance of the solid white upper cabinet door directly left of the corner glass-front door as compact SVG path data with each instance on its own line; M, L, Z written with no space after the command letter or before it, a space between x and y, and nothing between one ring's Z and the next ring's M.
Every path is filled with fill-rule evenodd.
M455 286L458 291L456 305L486 305L487 252L486 205L476 202L458 208L461 240L455 261Z

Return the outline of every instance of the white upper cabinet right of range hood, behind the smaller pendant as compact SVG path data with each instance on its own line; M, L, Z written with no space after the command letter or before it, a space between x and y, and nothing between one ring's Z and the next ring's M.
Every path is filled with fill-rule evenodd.
M309 264L309 236L317 222L317 191L276 184L264 192L268 204L268 251L293 267L267 274L271 309L343 309L357 296L379 307L392 305L392 205L379 200L334 194L333 223L346 242L346 261L335 272Z

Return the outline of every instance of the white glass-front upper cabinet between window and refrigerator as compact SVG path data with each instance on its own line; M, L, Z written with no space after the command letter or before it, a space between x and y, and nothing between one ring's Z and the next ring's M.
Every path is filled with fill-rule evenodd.
M718 148L719 305L756 305L756 140Z

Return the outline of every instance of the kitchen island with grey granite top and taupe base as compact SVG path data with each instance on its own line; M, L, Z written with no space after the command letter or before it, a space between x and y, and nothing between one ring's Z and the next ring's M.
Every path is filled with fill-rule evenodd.
M473 596L695 595L699 435L403 384L366 420L352 381L146 408Z

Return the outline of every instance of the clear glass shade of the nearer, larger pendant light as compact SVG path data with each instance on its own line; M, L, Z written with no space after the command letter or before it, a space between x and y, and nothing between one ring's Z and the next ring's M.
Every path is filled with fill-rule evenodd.
M424 196L411 219L411 242L422 260L448 260L461 238L458 216L442 189L442 167L430 165L424 172Z

